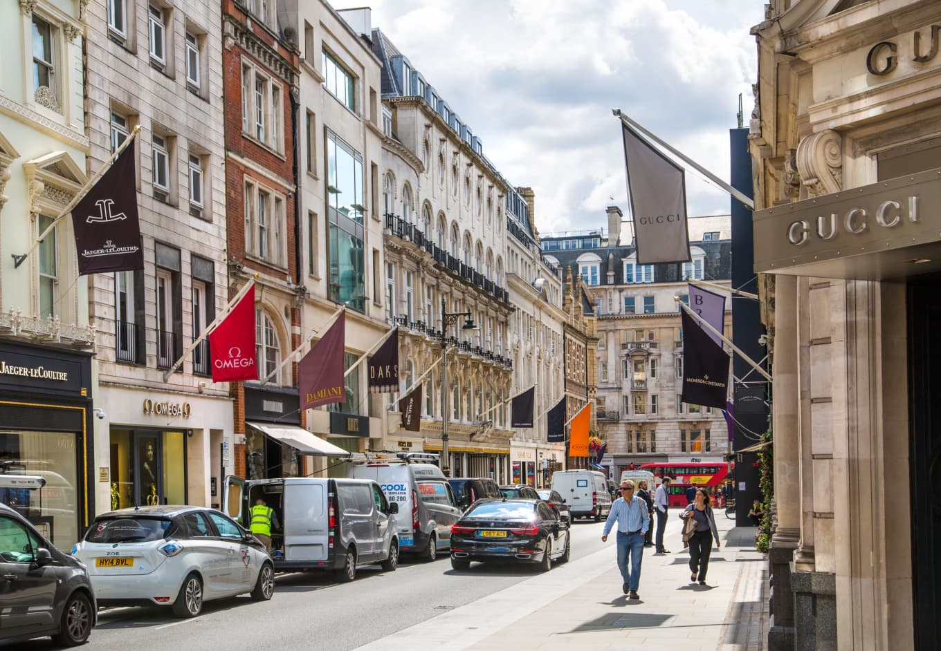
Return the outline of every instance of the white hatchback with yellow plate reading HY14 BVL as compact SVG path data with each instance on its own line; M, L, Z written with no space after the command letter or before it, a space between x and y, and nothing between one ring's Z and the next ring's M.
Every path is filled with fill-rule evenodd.
M203 601L275 590L271 557L234 520L199 506L138 506L91 523L72 555L88 566L99 606L169 606L195 617Z

